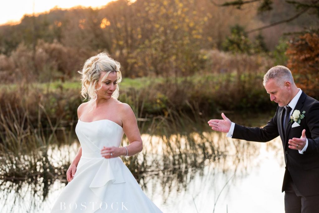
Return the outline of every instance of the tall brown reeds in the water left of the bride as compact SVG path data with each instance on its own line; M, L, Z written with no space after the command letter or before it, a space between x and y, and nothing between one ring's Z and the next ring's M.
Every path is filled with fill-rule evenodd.
M63 176L70 162L55 166L51 161L52 156L48 155L48 150L58 141L56 131L59 122L52 124L41 105L37 126L32 125L27 111L21 114L10 105L7 105L6 111L9 113L4 114L0 109L1 179L56 179L57 176ZM47 115L49 130L45 130L41 125L41 112Z

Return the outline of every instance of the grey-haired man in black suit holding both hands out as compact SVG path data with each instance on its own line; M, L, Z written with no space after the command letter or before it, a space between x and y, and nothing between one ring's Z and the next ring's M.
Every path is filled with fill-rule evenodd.
M272 67L263 85L270 100L278 103L266 126L240 126L224 113L223 120L212 119L209 126L247 141L267 142L280 135L286 163L282 186L286 213L319 212L319 102L296 87L285 66Z

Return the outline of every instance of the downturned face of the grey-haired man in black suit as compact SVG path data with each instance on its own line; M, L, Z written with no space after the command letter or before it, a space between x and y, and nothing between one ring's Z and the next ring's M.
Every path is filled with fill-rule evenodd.
M266 82L265 89L270 95L270 100L278 103L280 107L289 103L289 90L284 85L278 85L276 79L269 79Z

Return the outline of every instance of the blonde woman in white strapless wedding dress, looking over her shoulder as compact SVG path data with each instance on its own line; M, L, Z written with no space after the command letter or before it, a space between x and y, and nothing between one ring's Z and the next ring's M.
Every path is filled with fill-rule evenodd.
M69 183L51 212L161 212L150 201L119 156L142 151L135 115L117 100L120 64L100 53L86 60L75 132L81 147L67 171ZM129 145L119 147L125 133Z

